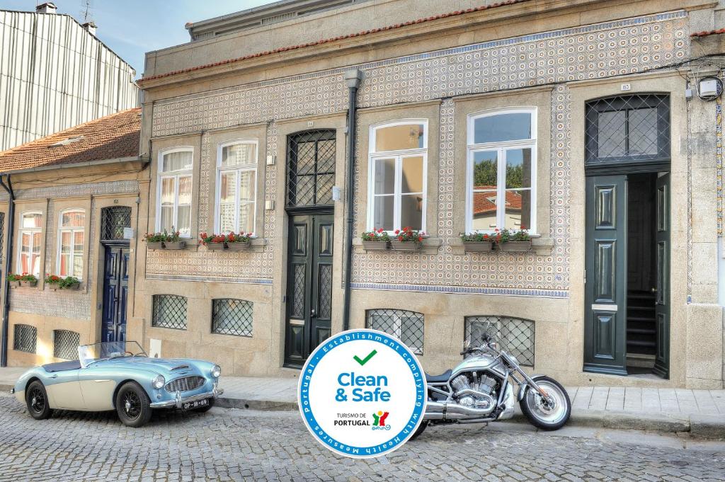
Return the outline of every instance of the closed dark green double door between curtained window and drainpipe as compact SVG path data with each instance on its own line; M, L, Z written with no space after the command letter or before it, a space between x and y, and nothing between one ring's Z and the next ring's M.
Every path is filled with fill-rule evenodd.
M331 214L290 216L285 366L302 367L330 336L333 232Z

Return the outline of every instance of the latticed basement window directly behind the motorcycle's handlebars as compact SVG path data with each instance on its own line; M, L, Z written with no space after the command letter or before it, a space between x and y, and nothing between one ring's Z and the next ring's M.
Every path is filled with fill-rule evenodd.
M501 348L521 365L534 366L534 322L504 316L465 317L465 341L476 346L484 335L493 336Z

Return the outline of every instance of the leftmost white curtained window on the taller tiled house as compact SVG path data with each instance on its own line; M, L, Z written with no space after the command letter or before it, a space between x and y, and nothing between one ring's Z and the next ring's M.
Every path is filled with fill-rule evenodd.
M193 167L193 147L175 147L159 152L157 231L178 231L182 238L191 238Z

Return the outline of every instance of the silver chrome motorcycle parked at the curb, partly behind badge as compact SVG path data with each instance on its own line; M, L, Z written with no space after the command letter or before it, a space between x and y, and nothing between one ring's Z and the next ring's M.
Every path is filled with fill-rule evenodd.
M569 420L571 402L564 387L546 375L527 375L492 336L485 335L481 346L465 346L460 354L468 357L454 370L426 373L428 405L412 439L428 425L508 420L517 400L531 425L542 430L557 430Z

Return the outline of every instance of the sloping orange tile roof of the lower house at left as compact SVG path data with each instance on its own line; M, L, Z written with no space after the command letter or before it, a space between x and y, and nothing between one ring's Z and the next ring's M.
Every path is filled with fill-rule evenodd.
M141 109L127 109L0 152L0 173L138 156ZM53 146L62 141L68 141Z

